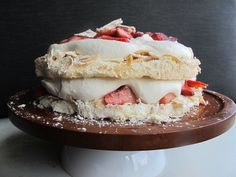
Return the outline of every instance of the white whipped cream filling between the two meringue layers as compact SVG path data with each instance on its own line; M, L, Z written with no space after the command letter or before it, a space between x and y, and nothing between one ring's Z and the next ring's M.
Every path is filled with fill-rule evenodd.
M148 104L158 103L169 92L180 95L183 83L183 80L160 81L148 78L129 80L104 78L42 80L42 84L49 93L66 100L71 98L82 101L100 99L120 86L127 85L133 90L137 98Z

